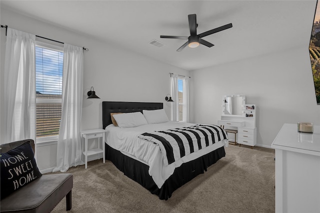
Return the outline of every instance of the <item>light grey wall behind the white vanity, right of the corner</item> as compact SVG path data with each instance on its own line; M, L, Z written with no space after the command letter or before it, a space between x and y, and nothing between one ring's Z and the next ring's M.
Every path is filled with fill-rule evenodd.
M320 125L308 46L191 73L191 119L216 124L222 95L244 94L257 105L257 145L270 147L283 123Z

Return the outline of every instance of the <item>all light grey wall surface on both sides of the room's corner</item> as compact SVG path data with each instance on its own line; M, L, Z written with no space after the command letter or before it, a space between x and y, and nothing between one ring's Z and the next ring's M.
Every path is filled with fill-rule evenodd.
M103 43L4 8L1 8L0 20L11 28L89 48L84 52L83 130L102 127L103 100L164 102L164 96L170 93L169 72L191 75L190 121L193 123L216 124L221 115L222 95L245 94L246 103L257 104L257 143L260 146L269 147L283 123L306 121L320 125L320 106L315 103L307 46L189 73L112 43ZM1 100L5 29L0 30L0 36ZM91 86L100 100L85 99ZM0 103L0 113L3 113L3 104ZM170 106L164 103L169 116ZM2 119L0 135L3 135L1 127ZM55 143L37 147L39 168L54 167L55 155Z

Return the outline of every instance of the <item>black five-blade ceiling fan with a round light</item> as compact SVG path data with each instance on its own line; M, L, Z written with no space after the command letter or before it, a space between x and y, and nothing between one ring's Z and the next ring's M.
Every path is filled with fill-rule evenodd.
M203 44L207 47L213 46L210 42L203 40L202 37L231 28L232 23L225 24L223 26L208 30L206 32L202 32L200 34L196 34L196 27L198 24L196 23L196 14L189 14L189 28L190 28L190 36L174 36L174 35L160 35L160 38L177 38L177 39L188 39L182 46L180 46L176 51L181 51L184 47L188 46L191 48L199 46L199 44Z

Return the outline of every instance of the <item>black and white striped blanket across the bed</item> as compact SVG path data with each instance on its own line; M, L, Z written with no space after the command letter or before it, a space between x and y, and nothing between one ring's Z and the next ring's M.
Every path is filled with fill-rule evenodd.
M185 155L227 139L227 134L216 125L195 124L183 128L143 133L138 137L159 145L164 165L169 165Z

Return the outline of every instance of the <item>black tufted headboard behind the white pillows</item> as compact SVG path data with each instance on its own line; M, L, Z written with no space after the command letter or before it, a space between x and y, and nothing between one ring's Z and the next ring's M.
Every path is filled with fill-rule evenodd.
M142 112L143 109L163 109L163 103L102 101L103 129L112 123L111 112Z

